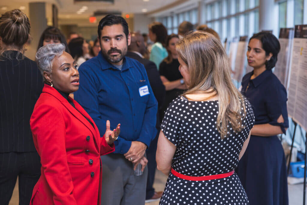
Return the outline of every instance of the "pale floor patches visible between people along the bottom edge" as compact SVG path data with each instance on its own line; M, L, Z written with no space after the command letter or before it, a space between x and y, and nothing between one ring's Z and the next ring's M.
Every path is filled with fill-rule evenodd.
M165 176L161 171L156 171L156 179L153 187L157 191L162 191L165 186L167 176ZM17 183L18 184L18 180ZM303 205L303 184L298 185L288 185L289 190L289 205ZM307 198L306 198L307 200ZM158 205L159 201L146 203L146 205ZM18 186L15 187L12 199L9 205L18 205Z

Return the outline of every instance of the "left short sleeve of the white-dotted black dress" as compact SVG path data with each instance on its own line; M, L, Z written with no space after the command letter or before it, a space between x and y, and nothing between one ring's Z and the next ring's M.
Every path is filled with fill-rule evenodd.
M181 130L181 116L182 113L179 111L179 107L183 102L175 99L169 107L166 109L164 118L161 123L161 131L165 137L173 143L175 146L178 145L178 137Z

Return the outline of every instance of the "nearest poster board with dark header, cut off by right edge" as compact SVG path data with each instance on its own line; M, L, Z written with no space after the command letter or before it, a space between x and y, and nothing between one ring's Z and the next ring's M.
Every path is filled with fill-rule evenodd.
M307 25L294 29L288 114L307 130Z

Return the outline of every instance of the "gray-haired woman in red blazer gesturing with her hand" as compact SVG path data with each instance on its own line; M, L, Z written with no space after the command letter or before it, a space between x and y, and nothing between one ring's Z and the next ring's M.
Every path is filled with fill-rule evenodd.
M79 88L79 73L63 44L41 47L36 58L45 86L30 125L42 166L30 204L100 205L100 155L114 152L120 124L111 131L107 120L100 137L95 122L68 96Z

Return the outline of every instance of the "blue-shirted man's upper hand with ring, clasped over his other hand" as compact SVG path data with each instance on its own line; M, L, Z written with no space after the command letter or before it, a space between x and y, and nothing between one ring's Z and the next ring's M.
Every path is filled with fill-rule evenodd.
M127 160L134 164L138 164L142 157L145 155L146 144L139 141L132 141L131 147L124 156Z

